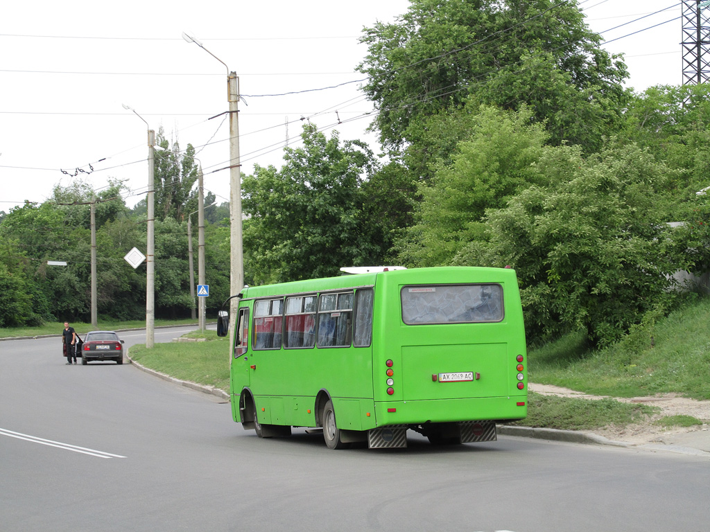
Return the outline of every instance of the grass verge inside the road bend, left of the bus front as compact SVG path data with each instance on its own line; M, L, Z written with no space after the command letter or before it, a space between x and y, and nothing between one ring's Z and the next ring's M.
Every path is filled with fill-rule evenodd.
M229 392L229 340L214 331L195 331L190 338L205 342L156 343L153 349L133 345L129 356L141 365L178 379L197 382Z

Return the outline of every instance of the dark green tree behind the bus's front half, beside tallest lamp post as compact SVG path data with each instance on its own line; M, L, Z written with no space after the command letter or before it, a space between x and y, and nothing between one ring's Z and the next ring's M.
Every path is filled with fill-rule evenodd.
M251 283L336 275L380 253L378 228L362 214L361 184L374 170L359 141L342 146L306 125L302 148L285 149L285 165L256 166L244 177L244 254Z

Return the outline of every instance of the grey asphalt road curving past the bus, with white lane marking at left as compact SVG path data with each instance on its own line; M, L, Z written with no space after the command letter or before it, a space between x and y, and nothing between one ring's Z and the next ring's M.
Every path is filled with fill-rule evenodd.
M214 396L126 363L68 366L60 348L0 342L3 532L707 529L707 458L506 436L440 448L413 434L401 450L328 450L300 430L260 440Z

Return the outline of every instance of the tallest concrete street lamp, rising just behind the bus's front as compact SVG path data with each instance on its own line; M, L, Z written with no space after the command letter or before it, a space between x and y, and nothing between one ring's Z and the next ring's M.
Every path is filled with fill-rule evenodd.
M239 159L239 77L229 72L226 63L204 48L199 40L182 32L182 38L188 43L195 43L217 61L227 71L227 100L229 101L229 243L230 243L230 283L229 295L236 295L244 287L244 255L241 248L241 163ZM236 298L231 299L229 321L229 345L234 344L234 320L236 319Z

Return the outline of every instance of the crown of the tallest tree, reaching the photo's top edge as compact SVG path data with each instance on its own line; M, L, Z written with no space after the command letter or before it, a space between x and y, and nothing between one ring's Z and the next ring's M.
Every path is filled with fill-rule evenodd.
M469 94L503 109L530 106L552 143L598 150L621 126L626 65L599 48L577 1L413 0L395 23L366 28L365 94L384 145L412 143L415 126Z

